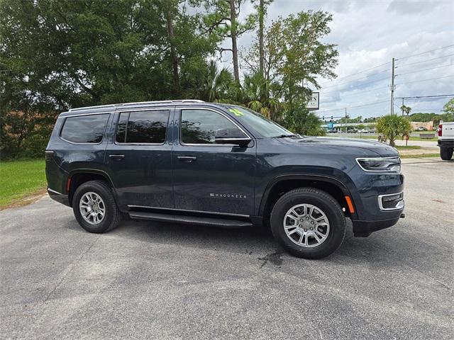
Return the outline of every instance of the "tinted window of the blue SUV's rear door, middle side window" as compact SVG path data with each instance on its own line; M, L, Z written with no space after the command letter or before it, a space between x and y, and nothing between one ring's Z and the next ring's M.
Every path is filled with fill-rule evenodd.
M169 112L168 110L122 112L118 118L116 142L164 143Z

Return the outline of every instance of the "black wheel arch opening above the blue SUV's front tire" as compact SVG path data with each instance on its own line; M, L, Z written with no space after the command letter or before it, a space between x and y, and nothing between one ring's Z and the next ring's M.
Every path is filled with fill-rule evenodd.
M272 179L262 196L258 215L268 217L277 200L284 193L295 188L319 188L320 190L326 191L338 201L341 207L345 208L345 216L357 217L353 197L344 183L330 176L304 174L282 175ZM348 202L345 196L350 197L355 210L353 213L348 209Z

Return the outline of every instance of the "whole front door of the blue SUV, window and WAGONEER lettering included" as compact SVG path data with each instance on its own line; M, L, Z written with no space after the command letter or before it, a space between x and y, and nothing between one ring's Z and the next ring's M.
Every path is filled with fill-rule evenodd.
M240 129L221 111L182 108L175 118L175 208L253 215L255 143L248 147L215 144L216 130Z

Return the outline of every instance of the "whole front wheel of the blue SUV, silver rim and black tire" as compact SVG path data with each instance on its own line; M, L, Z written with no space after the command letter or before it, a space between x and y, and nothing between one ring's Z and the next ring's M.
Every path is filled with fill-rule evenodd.
M333 196L316 188L299 188L277 200L271 230L290 254L321 259L341 246L345 217Z

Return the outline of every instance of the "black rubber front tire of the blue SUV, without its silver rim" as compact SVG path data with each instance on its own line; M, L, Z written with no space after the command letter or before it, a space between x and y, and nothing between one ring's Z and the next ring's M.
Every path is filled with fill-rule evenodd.
M299 246L287 236L284 229L284 217L287 211L294 205L304 203L316 206L328 218L330 225L328 237L318 246ZM345 237L345 216L341 205L333 196L316 188L298 188L285 193L273 207L270 221L272 234L277 242L290 254L305 259L321 259L332 254L341 246Z

